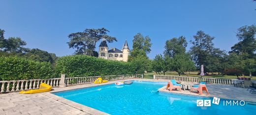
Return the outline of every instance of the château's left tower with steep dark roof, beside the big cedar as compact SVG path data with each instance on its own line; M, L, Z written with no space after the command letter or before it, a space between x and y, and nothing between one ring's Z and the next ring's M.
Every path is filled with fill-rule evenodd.
M106 39L102 39L102 41L99 44L99 51L98 51L98 58L108 58L108 46L107 46L107 41Z

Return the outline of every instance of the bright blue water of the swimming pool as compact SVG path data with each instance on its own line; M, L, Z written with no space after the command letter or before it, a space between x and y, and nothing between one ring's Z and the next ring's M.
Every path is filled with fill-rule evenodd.
M208 97L162 93L157 90L167 83L138 82L131 85L104 85L55 95L111 115L255 115L256 105L197 107L197 99Z

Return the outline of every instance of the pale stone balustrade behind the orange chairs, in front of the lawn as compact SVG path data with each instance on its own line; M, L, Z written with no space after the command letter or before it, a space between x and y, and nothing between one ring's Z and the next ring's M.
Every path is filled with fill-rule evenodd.
M206 82L209 84L224 84L224 85L232 85L233 84L232 79L203 78L203 77L200 80L199 77L154 75L154 79L177 80L177 81L184 81L184 82Z

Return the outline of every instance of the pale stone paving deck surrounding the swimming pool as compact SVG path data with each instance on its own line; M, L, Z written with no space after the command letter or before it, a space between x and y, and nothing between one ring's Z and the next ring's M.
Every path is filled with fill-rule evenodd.
M130 80L166 82L166 80L126 79L110 81L104 84L84 84L67 87L54 87L50 92L35 94L19 94L18 92L5 93L0 94L0 115L108 115L96 109L56 96L52 94L52 92L91 86L101 86ZM256 102L256 94L249 93L247 88L214 84L208 84L207 87L210 92L209 96ZM188 90L185 92L187 91Z

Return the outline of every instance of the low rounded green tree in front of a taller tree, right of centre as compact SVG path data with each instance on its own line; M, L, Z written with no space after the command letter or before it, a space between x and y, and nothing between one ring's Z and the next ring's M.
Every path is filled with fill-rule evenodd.
M189 71L195 70L195 65L189 54L175 55L173 60L173 69L178 72L179 76Z

